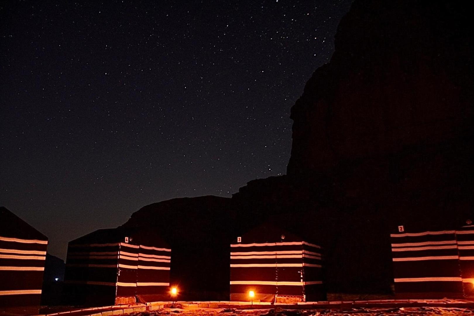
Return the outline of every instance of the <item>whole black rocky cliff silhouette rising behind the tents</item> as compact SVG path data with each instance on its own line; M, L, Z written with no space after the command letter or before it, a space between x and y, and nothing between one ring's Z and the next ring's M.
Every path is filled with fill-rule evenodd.
M389 293L398 225L473 218L469 21L457 1L356 0L292 107L287 175L151 204L125 225L163 232L192 299L227 298L230 241L264 221L325 246L329 291Z

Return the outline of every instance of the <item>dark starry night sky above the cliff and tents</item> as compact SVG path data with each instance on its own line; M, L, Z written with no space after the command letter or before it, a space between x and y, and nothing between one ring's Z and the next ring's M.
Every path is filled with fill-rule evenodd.
M0 205L50 240L285 174L352 0L2 1Z

